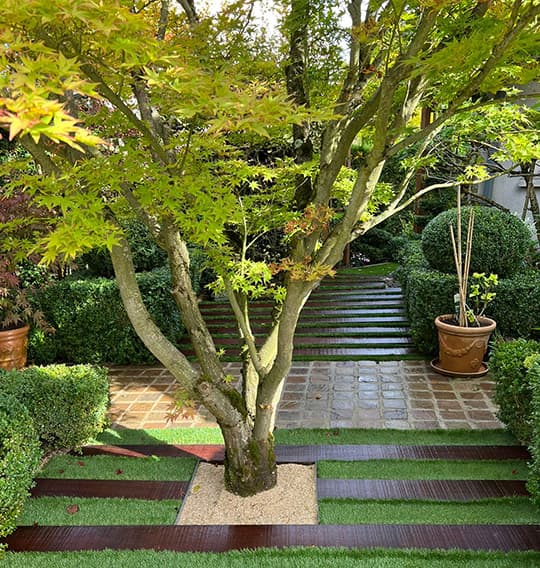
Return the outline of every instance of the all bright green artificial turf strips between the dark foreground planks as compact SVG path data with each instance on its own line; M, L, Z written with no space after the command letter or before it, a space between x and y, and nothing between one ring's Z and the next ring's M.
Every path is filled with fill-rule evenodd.
M222 443L217 428L160 430L108 430L100 443L204 444ZM503 430L403 431L403 430L278 430L278 444L402 444L402 445L513 445ZM116 456L58 456L41 477L78 479L188 480L195 460L186 458L126 458ZM342 479L525 479L526 463L509 461L369 460L320 462L319 477ZM44 497L30 499L20 525L173 524L181 501L136 499L79 499ZM76 507L74 507L76 506ZM490 499L467 503L408 500L323 499L321 524L540 524L540 512L526 498ZM154 551L102 551L80 553L6 553L8 567L116 568L302 568L336 565L372 568L444 568L447 566L533 567L540 553L475 553L403 550L285 549L223 554L181 554Z

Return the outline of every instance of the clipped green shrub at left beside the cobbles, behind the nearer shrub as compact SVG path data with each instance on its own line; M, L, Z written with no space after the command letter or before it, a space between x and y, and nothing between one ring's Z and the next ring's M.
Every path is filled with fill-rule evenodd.
M0 374L0 389L26 406L46 451L78 449L106 422L106 369L51 365L6 371Z

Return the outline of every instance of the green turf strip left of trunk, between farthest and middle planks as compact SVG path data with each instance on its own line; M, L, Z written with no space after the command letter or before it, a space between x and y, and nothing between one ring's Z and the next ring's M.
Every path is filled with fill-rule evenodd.
M57 456L37 477L54 479L129 479L189 481L197 460L151 456L133 459L117 456Z

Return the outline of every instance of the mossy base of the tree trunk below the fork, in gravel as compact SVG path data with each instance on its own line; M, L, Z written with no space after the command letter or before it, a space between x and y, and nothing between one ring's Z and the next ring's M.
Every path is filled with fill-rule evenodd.
M225 440L225 488L241 497L272 489L277 482L274 437L256 440L243 424L221 427Z

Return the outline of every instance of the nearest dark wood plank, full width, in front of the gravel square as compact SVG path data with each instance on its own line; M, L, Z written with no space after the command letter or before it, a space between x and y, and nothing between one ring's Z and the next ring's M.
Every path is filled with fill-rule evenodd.
M19 527L9 550L173 550L224 552L254 548L325 546L540 550L540 525L200 525Z

